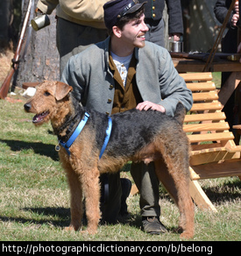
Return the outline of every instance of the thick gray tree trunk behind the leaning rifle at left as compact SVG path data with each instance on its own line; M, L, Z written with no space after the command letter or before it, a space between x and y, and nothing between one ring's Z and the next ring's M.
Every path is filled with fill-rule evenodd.
M38 0L33 2L35 3L32 4L30 20L36 16L34 10ZM22 21L25 18L27 4L28 0L25 0ZM49 18L50 25L38 32L35 32L32 27L27 29L18 72L15 75L12 88L15 86L22 87L23 82L60 80L60 56L56 47L56 18L54 11Z

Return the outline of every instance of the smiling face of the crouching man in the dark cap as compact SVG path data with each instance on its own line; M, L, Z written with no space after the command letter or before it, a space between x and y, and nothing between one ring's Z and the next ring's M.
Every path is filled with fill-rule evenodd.
M124 44L142 48L145 46L145 33L148 31L145 25L145 15L138 19L133 19L124 25L121 31L121 39Z

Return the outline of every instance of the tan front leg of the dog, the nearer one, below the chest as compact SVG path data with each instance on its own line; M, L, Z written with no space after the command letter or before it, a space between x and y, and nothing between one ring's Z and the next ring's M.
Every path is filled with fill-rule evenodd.
M82 174L82 188L85 197L87 232L95 234L100 220L100 184L97 167L88 168Z

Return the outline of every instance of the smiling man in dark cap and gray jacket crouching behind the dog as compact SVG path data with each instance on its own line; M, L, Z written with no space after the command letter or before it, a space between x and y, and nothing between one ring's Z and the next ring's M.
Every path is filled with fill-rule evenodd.
M62 82L74 87L74 96L87 108L113 114L137 108L174 116L177 103L187 110L192 94L164 48L145 42L144 4L114 0L104 4L104 22L110 37L72 57ZM123 149L124 150L124 149ZM159 182L152 164L132 164L131 174L140 191L146 232L166 231L159 222ZM109 200L103 218L117 218L121 204L119 176L109 176ZM154 188L154 190L152 189Z

